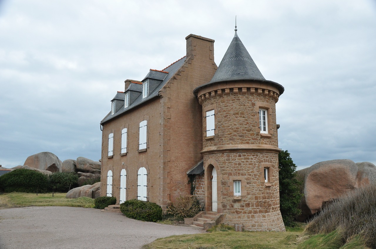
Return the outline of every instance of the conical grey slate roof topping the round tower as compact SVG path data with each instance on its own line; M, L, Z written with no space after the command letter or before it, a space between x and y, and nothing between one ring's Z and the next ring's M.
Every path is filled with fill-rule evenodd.
M197 87L193 93L197 95L199 89L213 83L235 80L265 81L275 85L279 89L280 95L284 92L282 85L265 80L236 31L211 81Z

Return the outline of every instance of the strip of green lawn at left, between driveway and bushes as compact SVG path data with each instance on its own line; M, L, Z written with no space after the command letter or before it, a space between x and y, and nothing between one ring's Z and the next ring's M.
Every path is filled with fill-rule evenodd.
M32 206L65 206L65 207L84 207L88 204L94 204L94 199L89 197L80 197L77 199L65 198L66 193L1 193L0 209L12 207L32 207Z

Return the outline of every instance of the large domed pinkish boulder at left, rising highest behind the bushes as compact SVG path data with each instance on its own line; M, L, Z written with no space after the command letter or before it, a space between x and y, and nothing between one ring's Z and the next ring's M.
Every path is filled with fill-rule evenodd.
M40 152L27 157L24 165L31 168L48 170L51 172L61 171L61 160L51 152Z

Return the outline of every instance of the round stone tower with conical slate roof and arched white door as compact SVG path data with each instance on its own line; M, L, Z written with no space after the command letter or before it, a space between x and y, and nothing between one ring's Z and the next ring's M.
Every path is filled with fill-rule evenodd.
M194 90L203 113L205 211L250 231L285 231L279 210L276 102L237 35L212 80Z

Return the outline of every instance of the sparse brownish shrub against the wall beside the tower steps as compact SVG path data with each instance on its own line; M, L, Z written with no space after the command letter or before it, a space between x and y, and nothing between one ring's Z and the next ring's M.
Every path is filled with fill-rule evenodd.
M174 202L169 202L167 214L173 215L177 220L191 218L201 210L199 200L194 195L180 196Z

